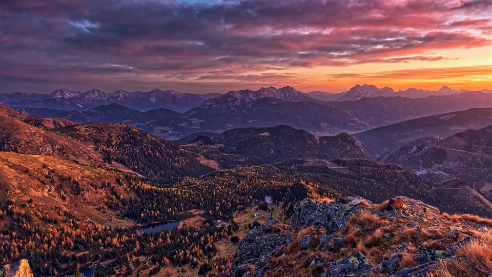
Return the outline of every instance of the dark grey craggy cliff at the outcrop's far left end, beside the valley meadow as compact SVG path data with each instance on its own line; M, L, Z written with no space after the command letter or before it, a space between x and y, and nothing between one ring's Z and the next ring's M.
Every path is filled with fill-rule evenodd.
M272 253L286 244L285 239L285 236L266 233L260 227L249 231L237 250L236 259L232 265L232 276L244 275L247 265L255 265L257 272L260 272L270 260Z

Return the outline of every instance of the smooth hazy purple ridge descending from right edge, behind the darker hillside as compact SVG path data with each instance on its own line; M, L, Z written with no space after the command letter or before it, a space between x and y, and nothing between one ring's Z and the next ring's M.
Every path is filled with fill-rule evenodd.
M416 118L355 134L367 151L377 157L417 138L449 136L469 128L483 128L492 121L492 108L476 108Z

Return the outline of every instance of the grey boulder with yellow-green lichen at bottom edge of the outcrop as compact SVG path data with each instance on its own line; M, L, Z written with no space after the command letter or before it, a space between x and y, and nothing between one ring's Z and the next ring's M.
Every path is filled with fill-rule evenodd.
M325 277L368 276L373 265L360 252L327 264Z

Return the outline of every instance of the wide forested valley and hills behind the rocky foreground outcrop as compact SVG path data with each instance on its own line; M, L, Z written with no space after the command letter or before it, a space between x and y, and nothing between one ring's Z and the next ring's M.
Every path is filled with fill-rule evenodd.
M27 259L36 275L87 268L94 276L256 272L241 267L243 244L259 230L291 238L305 199L333 203L357 195L383 203L405 195L443 214L433 216L484 219L459 228L478 229L492 217L492 108L482 103L373 128L381 122L367 123L361 111L300 93L240 91L185 113L119 104L85 111L0 106L2 264ZM354 107L357 101L367 98ZM162 138L169 134L177 140ZM141 229L170 221L169 228ZM301 230L323 235L317 232ZM412 240L430 238L439 236ZM303 253L292 252L297 239L288 244L284 253ZM365 251L371 263L381 262L380 254ZM269 267L292 274L269 255Z

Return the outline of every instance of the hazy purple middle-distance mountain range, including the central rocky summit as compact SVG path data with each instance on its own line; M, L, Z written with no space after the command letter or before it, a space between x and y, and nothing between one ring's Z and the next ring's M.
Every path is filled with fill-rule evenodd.
M277 125L289 125L321 136L344 131L354 133L422 116L490 107L490 94L473 91L416 99L366 97L357 101L322 102L291 87L271 87L230 92L211 98L185 113L164 108L142 112L119 104L83 111L29 107L15 109L78 123L126 123L167 140L178 140L197 132L221 133L233 128Z

